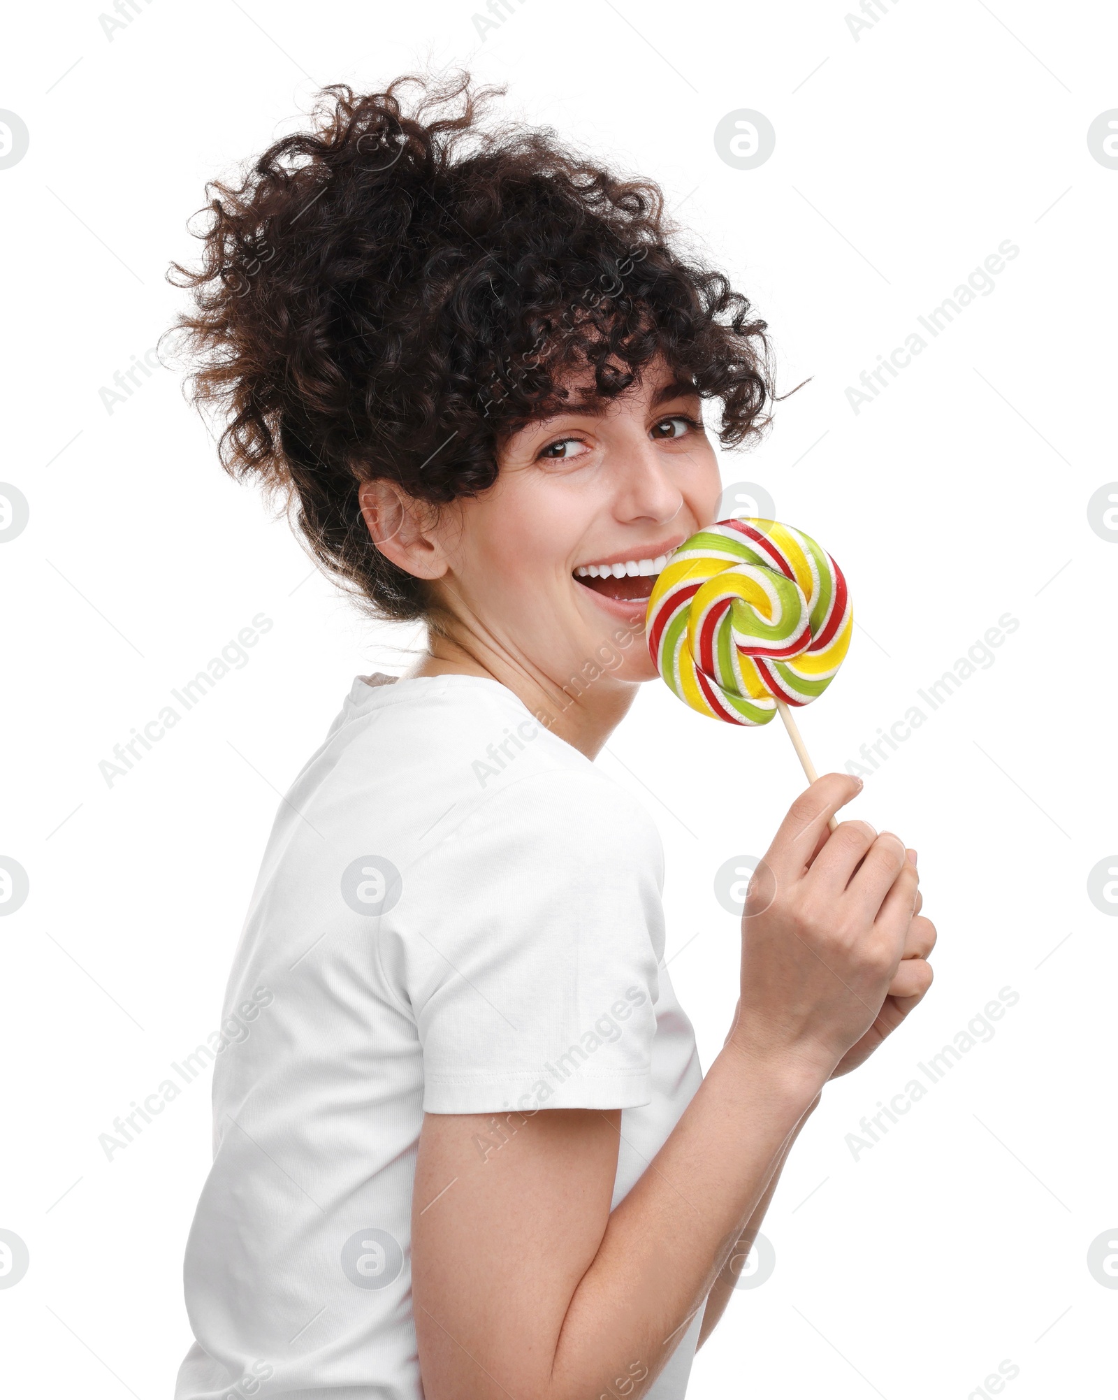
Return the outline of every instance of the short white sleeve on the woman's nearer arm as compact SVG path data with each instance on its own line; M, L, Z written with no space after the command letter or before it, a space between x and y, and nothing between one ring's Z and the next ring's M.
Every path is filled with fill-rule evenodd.
M397 937L425 1112L651 1102L662 872L648 815L590 769L502 787L416 862Z

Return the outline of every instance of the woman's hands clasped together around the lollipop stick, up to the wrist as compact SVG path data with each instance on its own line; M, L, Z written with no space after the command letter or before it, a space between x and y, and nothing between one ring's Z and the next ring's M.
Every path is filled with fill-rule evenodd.
M728 1044L791 1057L821 1079L861 1064L932 981L915 851L866 822L828 819L861 791L838 773L792 805L750 882L742 998Z

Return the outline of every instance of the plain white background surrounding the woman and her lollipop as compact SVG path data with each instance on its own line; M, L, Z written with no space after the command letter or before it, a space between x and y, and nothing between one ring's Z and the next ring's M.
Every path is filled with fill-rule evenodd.
M658 179L768 319L782 386L810 377L760 449L721 461L851 582L855 644L800 721L820 769L1020 620L852 809L919 850L936 984L827 1089L764 1226L775 1271L733 1296L691 1394L964 1400L1002 1361L1013 1400L1108 1392L1118 1289L1087 1249L1118 1238L1118 923L1087 874L1118 851L1118 542L1087 501L1118 479L1118 171L1086 136L1118 106L1118 13L882 0L855 38L838 0L511 3L484 41L477 0L137 0L111 39L92 0L6 21L0 106L31 133L0 169L0 476L31 510L0 546L0 855L31 879L0 920L0 1228L31 1256L0 1289L7 1387L171 1394L204 1079L112 1161L98 1135L215 1028L278 794L353 676L402 669L416 641L312 574L220 470L172 372L112 413L99 391L181 305L164 273L196 256L204 181L298 125L320 84L430 60L508 81L507 115ZM714 146L740 108L777 132L751 171ZM1020 253L995 290L855 413L848 385L1005 239ZM274 626L249 664L106 785L113 745L259 612ZM714 872L767 846L802 787L792 750L653 683L599 762L663 833L670 969L709 1064L737 938ZM1003 987L1020 1000L993 1039L855 1161L847 1134Z

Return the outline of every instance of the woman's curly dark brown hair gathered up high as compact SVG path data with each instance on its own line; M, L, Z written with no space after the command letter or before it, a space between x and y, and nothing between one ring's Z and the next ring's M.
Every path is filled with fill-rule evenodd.
M609 399L662 356L721 400L723 445L770 423L767 323L670 246L659 186L550 127L483 129L504 91L465 73L323 88L309 132L239 183L207 183L200 266L168 272L193 291L169 333L192 402L225 417L222 466L277 491L319 563L382 617L437 609L374 545L361 482L432 503L484 491L501 442L561 410L572 370L592 367L590 393Z

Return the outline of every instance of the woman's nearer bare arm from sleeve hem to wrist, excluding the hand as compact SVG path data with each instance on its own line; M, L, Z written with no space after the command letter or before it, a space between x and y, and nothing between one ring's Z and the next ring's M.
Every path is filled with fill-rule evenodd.
M728 1046L613 1212L620 1110L428 1114L411 1242L428 1400L639 1394L819 1088Z

